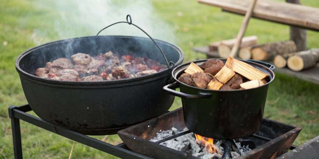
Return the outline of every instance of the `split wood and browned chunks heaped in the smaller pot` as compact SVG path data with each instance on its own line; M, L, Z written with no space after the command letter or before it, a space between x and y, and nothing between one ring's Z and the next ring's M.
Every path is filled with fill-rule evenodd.
M219 59L208 59L200 66L191 63L179 81L211 90L250 89L267 83L264 73L240 60L228 57L226 63Z

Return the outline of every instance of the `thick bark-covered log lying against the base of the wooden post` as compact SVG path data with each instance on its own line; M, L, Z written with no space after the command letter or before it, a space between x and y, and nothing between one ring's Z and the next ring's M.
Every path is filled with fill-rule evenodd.
M296 52L296 50L297 47L293 41L283 41L254 46L251 55L254 60L264 61L274 58L277 54L282 55Z

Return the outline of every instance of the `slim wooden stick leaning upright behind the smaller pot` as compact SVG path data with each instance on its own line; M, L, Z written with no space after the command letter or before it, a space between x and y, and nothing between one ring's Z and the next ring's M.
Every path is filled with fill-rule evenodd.
M244 33L246 31L246 28L247 28L247 25L248 25L248 22L249 22L249 19L251 17L251 14L253 12L253 9L255 7L255 4L257 2L257 0L252 0L253 2L251 3L251 5L249 6L246 14L245 14L245 17L244 17L244 20L242 21L242 24L241 24L241 28L237 34L237 39L236 39L236 43L235 45L233 46L232 48L232 51L230 52L230 57L235 57L237 55L237 52L238 52L238 48L241 44L241 39L242 37L244 36Z

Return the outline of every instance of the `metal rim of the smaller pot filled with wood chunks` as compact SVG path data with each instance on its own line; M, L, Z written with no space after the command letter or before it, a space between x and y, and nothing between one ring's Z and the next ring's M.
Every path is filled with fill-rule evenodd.
M199 64L202 64L204 63L205 61L207 61L208 59L202 59L202 60L196 60L196 61L191 61L197 65ZM227 59L219 59L219 60L222 60L224 63L226 62ZM263 86L259 86L259 87L256 87L256 88L250 88L250 89L245 89L245 90L240 90L240 89L234 89L234 90L210 90L210 89L204 89L204 88L198 88L198 87L195 87L195 86L189 86L181 81L178 80L178 77L184 73L184 71L186 70L186 68L189 66L189 64L191 62L187 62L187 63L184 63L182 65L179 65L179 66L176 66L173 71L172 71L172 77L175 79L175 81L177 81L179 84L181 85L184 85L184 86L187 86L187 87L191 87L191 88L194 88L194 89L197 89L197 90L202 90L202 91L205 91L205 92L234 92L234 91L247 91L247 90L251 90L251 89L257 89L257 88L260 88L260 87L265 87L267 86L268 84L270 84L274 79L275 79L275 73L270 69L268 68L267 66L264 66L264 65L261 65L261 64L258 64L256 62L253 62L253 61L249 61L249 60L242 60L242 59L239 59L240 61L243 61L245 63L248 63L250 66L253 66L265 73L267 73L269 76L267 77L268 78L268 82L266 84L264 84Z

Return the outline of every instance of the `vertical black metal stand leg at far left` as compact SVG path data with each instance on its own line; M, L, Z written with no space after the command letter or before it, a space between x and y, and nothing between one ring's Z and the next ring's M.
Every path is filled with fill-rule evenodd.
M22 145L21 145L21 132L20 120L12 116L12 109L9 107L9 116L11 118L12 138L13 138L13 152L15 159L22 159Z

